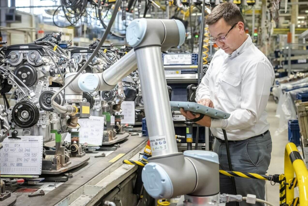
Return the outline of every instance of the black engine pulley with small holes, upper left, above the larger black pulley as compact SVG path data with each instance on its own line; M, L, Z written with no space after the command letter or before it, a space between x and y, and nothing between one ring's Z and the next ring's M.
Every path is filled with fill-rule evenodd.
M37 71L30 65L21 64L14 70L14 74L20 79L27 87L33 86L38 78ZM16 80L17 81L17 80ZM18 82L18 85L21 85Z

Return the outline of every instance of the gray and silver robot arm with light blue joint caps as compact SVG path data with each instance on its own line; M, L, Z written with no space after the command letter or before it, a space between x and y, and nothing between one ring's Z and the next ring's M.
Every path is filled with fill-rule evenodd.
M103 73L80 74L65 88L65 99L81 101L83 91L113 89L138 67L152 147L152 158L142 172L144 188L154 198L190 194L186 199L191 202L199 198L201 204L201 197L203 203L219 203L217 154L206 151L183 154L176 145L161 51L184 43L184 25L177 20L135 19L128 26L126 39L134 50ZM67 75L65 82L70 82L73 75ZM64 114L78 112L73 105L53 105L53 108Z

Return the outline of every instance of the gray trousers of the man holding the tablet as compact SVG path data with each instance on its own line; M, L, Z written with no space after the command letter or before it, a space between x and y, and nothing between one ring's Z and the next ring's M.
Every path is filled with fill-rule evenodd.
M230 155L233 171L251 172L265 175L270 165L272 152L272 138L270 132L261 137L241 141L229 141ZM225 142L215 138L213 152L218 154L220 169L229 171ZM220 193L235 194L231 178L220 174ZM235 177L237 194L243 197L247 194L256 195L258 199L265 199L265 180L246 179ZM236 206L235 202L227 206ZM239 202L240 206L251 206L246 201ZM264 206L263 203L256 203Z

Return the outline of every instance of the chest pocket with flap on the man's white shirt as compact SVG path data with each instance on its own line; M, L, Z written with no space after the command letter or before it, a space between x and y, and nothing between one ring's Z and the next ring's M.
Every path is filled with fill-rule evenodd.
M223 75L218 98L237 104L238 97L241 95L240 83L241 79L226 74Z

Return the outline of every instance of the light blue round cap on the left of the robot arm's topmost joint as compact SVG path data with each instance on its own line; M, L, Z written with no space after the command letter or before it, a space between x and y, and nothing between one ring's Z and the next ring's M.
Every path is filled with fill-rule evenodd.
M134 19L130 22L126 30L127 43L132 47L138 46L147 32L147 27L147 20L145 18Z

